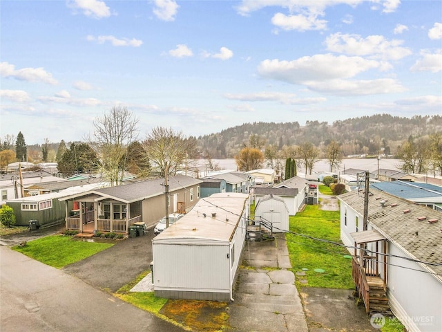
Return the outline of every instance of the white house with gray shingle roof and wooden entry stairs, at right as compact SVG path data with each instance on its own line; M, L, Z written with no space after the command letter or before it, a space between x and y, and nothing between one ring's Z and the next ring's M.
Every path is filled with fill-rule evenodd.
M442 213L374 187L338 199L367 313L390 308L407 331L442 331Z

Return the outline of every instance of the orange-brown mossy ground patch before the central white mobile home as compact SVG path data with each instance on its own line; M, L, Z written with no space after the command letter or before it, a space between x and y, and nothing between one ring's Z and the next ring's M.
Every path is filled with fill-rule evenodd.
M195 331L221 331L228 324L226 302L169 299L160 313Z

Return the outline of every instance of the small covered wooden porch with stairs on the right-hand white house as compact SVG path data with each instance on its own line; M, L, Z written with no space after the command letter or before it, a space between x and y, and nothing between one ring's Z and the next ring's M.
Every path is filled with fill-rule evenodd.
M365 312L389 314L387 239L376 230L351 233L354 239L352 277ZM381 250L381 251L380 251Z

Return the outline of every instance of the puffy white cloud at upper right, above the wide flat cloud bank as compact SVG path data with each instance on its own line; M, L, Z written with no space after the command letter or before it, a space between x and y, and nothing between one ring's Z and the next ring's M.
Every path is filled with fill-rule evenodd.
M348 55L369 56L375 59L402 59L412 52L402 47L402 40L388 41L381 35L371 35L366 38L360 35L334 33L325 39L327 50Z

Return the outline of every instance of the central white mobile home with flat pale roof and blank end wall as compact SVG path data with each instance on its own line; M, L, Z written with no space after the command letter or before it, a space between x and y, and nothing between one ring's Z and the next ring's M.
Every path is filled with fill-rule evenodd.
M200 199L152 240L155 296L232 299L249 218L249 195L220 193Z

